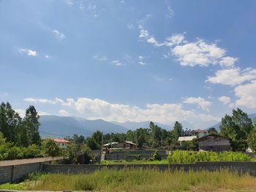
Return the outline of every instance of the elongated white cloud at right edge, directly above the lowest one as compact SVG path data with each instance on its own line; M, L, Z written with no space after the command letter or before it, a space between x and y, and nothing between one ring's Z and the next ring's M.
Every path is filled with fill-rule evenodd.
M207 77L206 82L222 85L240 85L242 82L256 79L256 69L246 68L241 71L239 67L222 69L215 73L215 77Z

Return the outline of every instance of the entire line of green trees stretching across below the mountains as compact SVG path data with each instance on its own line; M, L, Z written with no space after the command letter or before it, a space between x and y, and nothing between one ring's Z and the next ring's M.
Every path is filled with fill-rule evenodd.
M256 123L256 119L255 119ZM26 109L24 118L12 109L10 103L0 105L0 160L15 158L33 158L45 155L64 155L74 157L79 150L89 155L90 150L99 150L102 146L102 132L95 131L90 137L67 137L72 141L68 150L63 151L51 139L41 139L39 135L39 115L34 106ZM233 150L246 150L251 147L256 151L256 127L252 119L241 109L233 110L232 115L222 118L219 133L215 128L209 128L209 134L220 134L230 138ZM189 136L191 130L184 128L176 121L172 130L165 130L150 122L148 128L137 128L127 133L103 134L103 144L123 142L125 140L138 144L138 147L178 147L178 137ZM196 140L185 142L189 150L195 150Z

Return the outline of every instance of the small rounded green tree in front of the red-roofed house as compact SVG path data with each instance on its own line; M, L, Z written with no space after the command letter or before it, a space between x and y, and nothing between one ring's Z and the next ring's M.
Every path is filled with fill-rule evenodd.
M42 142L42 151L52 157L61 155L61 148L52 139L45 139Z

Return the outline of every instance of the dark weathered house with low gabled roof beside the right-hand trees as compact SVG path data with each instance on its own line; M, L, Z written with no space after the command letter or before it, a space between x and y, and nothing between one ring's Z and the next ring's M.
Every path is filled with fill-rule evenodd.
M217 134L209 134L205 137L197 139L199 150L212 150L222 152L230 150L230 139Z

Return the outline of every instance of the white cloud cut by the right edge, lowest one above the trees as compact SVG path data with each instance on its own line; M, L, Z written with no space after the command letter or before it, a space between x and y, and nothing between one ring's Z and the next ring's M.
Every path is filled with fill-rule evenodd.
M256 109L256 80L235 88L235 94L239 98L236 106L244 106L249 109Z

